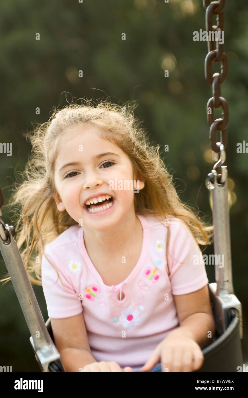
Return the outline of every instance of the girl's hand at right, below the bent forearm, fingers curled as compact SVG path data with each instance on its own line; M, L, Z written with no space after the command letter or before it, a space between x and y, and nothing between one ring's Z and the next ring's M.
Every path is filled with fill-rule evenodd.
M193 339L175 330L158 344L141 372L149 372L159 362L161 372L191 372L202 366L204 355Z

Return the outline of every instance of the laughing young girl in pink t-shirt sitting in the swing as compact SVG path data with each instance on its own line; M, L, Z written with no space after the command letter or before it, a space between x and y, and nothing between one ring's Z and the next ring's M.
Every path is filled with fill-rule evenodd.
M67 372L195 371L215 334L198 246L213 227L138 126L128 107L85 100L29 135L17 243Z

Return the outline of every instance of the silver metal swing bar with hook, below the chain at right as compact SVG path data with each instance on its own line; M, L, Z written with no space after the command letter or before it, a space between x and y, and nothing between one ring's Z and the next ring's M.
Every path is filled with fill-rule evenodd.
M219 335L227 330L230 323L228 319L228 308L236 308L239 318L239 336L243 338L242 305L234 295L232 284L232 256L230 244L230 221L228 207L228 172L227 166L221 166L221 173L217 174L217 166L225 161L225 151L223 145L221 148L221 157L214 166L211 173L208 174L211 182L211 198L213 212L213 235L214 235L214 253L215 253L215 281L210 283L209 289L215 296L215 324ZM219 265L218 258L224 259Z

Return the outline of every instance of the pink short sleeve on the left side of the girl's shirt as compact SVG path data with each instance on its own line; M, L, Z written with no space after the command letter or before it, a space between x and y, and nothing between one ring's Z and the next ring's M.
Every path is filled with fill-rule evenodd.
M74 287L62 273L55 253L46 246L45 254L56 266L63 282L62 284L57 272L43 255L41 281L49 318L68 318L80 314L83 310L82 300L79 299Z

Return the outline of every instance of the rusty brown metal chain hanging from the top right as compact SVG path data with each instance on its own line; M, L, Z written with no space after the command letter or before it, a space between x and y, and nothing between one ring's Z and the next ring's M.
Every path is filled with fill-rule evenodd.
M210 126L209 140L211 148L213 150L213 160L217 160L217 153L220 152L220 147L217 145L217 131L221 132L221 144L224 148L227 148L227 126L229 121L228 103L225 98L221 97L221 84L225 82L227 78L227 55L223 52L223 44L219 44L216 41L216 49L214 48L214 41L209 41L209 32L223 31L224 29L224 6L225 0L213 1L203 0L203 6L206 10L206 31L207 31L207 49L208 54L205 58L205 78L209 84L212 84L213 97L209 99L207 103L207 121ZM213 16L217 16L217 25L213 25ZM212 63L211 62L221 62L221 73L217 72L212 75ZM222 118L215 119L213 111L214 108L222 107ZM208 109L211 109L211 114L208 114Z

